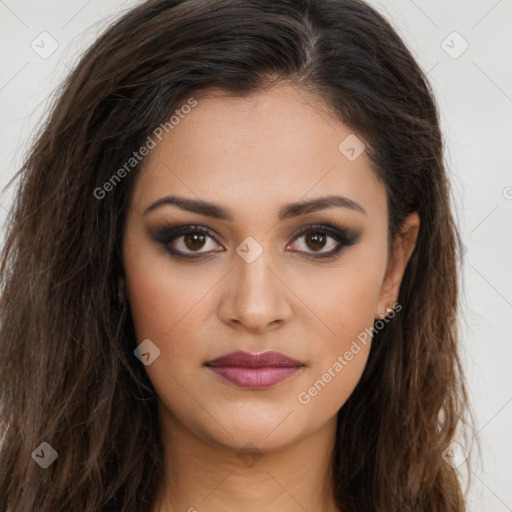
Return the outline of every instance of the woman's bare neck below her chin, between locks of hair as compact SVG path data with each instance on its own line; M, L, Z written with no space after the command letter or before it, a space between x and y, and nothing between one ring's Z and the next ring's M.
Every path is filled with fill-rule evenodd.
M264 452L202 438L164 407L160 425L166 478L154 512L339 512L331 485L336 416L312 435Z

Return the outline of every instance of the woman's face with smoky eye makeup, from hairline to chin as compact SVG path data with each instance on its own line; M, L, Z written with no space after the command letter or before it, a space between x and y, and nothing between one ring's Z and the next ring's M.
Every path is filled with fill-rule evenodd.
M151 150L123 259L168 425L264 451L335 421L374 319L398 297L418 227L414 214L387 267L385 190L362 149L315 96L285 85L210 94ZM170 195L188 202L150 208ZM207 365L237 351L302 366Z

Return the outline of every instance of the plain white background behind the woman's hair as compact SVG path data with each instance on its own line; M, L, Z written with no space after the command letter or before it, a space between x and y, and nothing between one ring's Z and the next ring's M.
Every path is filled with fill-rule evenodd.
M70 65L108 21L136 3L0 0L1 188L20 165L46 101ZM371 3L429 72L442 112L446 162L466 246L463 357L483 448L482 460L471 469L469 510L512 511L512 2ZM45 59L31 48L33 41L43 45L44 31L58 43ZM464 41L469 47L458 56ZM11 201L11 192L0 196L2 233Z

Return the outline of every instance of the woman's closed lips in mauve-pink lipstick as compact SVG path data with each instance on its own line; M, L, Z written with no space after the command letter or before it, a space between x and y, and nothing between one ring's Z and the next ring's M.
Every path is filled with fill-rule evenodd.
M205 366L236 386L262 389L288 380L305 364L280 352L252 354L238 351L208 361Z

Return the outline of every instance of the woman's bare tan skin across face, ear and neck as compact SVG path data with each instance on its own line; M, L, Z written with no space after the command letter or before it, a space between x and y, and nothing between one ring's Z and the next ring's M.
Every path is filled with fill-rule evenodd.
M366 152L350 161L338 150L351 133L319 98L291 85L245 98L212 90L151 151L138 176L122 286L138 343L150 339L160 349L145 367L159 397L168 470L154 512L338 510L327 478L336 417L371 343L359 343L309 403L298 395L397 301L419 229L413 213L388 264L385 189ZM173 205L144 214L168 194L222 205L233 220ZM329 207L278 219L287 203L333 194L366 213ZM217 240L186 245L178 237L173 247L208 256L173 258L153 237L166 222L207 227ZM307 235L295 233L326 222L360 236L336 257L315 260L308 255L329 252L336 240L308 245ZM251 263L236 252L248 236L263 250ZM241 388L204 366L235 350L276 350L305 367L266 389ZM241 456L248 443L253 459Z

